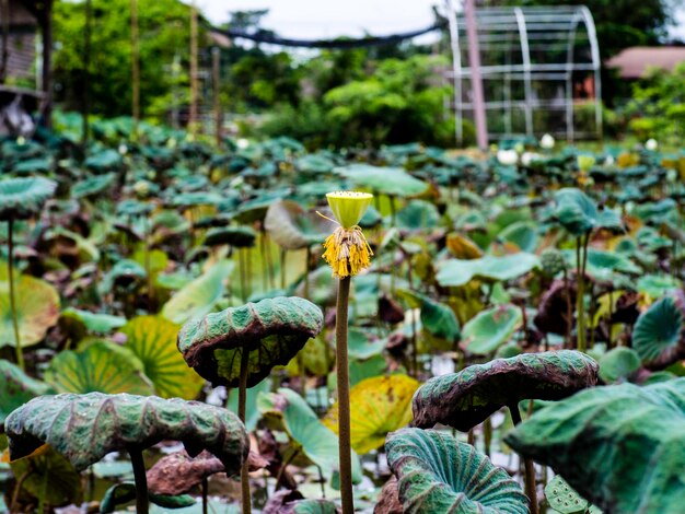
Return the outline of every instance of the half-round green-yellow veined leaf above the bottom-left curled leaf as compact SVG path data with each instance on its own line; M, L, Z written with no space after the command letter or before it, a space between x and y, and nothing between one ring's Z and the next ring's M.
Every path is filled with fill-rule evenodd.
M95 341L79 351L58 353L45 379L59 393L152 394L142 364L128 349L114 342Z

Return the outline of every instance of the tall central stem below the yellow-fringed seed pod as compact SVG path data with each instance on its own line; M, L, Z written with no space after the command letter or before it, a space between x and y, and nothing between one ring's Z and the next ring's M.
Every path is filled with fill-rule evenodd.
M342 514L355 512L352 494L352 457L350 429L350 382L347 358L347 309L351 278L345 277L338 284L338 305L335 324L337 377L338 377L338 449L340 456L340 495Z

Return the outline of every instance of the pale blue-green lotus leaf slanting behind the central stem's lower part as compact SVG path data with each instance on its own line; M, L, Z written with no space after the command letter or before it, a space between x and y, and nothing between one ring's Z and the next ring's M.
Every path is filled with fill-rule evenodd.
M259 410L282 420L283 428L306 457L317 465L324 477L333 477L340 469L338 436L325 427L312 408L292 389L280 388L278 393L259 395ZM361 481L359 457L352 452L352 480Z

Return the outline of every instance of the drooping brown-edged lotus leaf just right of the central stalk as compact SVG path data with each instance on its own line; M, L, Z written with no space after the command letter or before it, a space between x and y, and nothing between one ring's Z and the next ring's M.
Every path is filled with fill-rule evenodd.
M466 432L501 407L523 399L558 400L592 387L597 363L582 352L523 353L437 376L414 395L414 423L442 423Z

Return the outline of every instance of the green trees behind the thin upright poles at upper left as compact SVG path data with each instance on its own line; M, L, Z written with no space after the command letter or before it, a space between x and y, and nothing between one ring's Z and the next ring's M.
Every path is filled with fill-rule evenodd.
M55 81L60 84L58 100L74 109L80 107L83 94L84 5L85 2L55 2L54 31L58 45L54 70ZM188 85L187 75L181 70L188 69L189 12L188 5L176 0L138 2L140 97L146 115L163 116L164 112L151 110L156 98L169 95L165 103L156 103L167 108L172 87ZM106 116L130 114L130 1L93 0L92 23L91 107ZM204 34L200 30L200 37Z

